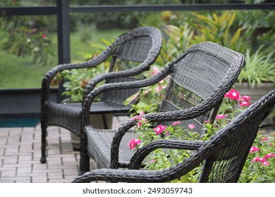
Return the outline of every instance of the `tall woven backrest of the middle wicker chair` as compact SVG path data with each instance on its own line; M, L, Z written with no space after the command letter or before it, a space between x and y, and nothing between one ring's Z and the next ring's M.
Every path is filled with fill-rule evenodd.
M160 112L192 108L220 91L222 101L243 68L243 59L242 54L212 42L191 47L170 65L171 78ZM215 107L219 108L219 104ZM197 120L208 120L210 113L201 115Z

